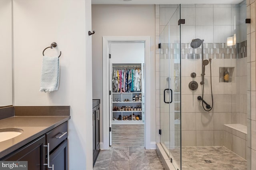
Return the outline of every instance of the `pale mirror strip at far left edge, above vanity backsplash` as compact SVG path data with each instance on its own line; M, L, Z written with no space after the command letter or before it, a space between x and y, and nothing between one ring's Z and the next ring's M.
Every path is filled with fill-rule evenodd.
M12 1L0 1L0 106L12 105Z

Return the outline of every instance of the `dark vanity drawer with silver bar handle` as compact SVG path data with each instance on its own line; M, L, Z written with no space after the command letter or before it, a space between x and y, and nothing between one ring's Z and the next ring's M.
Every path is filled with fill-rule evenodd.
M50 143L50 152L67 137L68 137L68 122L65 122L62 125L47 132L46 143Z

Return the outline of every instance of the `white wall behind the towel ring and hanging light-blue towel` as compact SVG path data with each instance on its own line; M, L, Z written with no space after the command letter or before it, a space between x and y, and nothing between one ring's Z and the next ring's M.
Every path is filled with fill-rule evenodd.
M90 0L14 0L14 104L70 105L69 169L92 169ZM42 51L60 56L58 91L41 93ZM82 166L81 166L82 165Z

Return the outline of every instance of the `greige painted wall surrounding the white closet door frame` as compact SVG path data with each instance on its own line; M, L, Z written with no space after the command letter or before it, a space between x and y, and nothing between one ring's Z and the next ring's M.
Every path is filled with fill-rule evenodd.
M92 5L92 94L100 99L102 108L102 36L150 36L151 37L151 93L155 94L155 6L154 5ZM156 141L155 98L151 105L151 142ZM106 114L106 111L100 110ZM148 113L146 113L148 114ZM102 116L102 115L101 115ZM102 122L100 123L102 127ZM100 130L102 142L102 129Z

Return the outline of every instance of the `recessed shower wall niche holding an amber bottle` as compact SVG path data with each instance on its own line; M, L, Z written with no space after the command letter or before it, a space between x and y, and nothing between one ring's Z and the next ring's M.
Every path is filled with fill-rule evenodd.
M235 67L220 67L220 83L234 83L234 69Z

